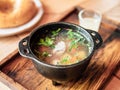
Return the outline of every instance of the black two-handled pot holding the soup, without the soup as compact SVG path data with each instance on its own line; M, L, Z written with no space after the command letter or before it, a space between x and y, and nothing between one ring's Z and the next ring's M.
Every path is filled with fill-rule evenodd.
M49 31L56 30L58 28L70 28L73 30L79 30L80 33L87 38L87 40L91 43L90 54L84 60L72 64L72 65L51 65L43 62L43 60L39 60L37 56L33 53L33 43L40 36L47 35ZM47 30L47 32L46 32ZM66 23L66 22L53 22L40 26L35 29L29 36L22 39L19 42L19 53L23 57L29 58L32 60L34 66L38 70L40 74L45 76L46 78L51 79L53 82L66 82L77 77L80 77L82 73L85 71L86 67L90 62L90 58L92 57L94 51L99 48L102 44L101 36L92 30L86 30L79 25Z

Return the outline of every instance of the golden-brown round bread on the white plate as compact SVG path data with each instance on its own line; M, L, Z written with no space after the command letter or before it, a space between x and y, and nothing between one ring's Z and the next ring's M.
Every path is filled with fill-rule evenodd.
M0 28L21 26L37 13L32 0L0 0Z

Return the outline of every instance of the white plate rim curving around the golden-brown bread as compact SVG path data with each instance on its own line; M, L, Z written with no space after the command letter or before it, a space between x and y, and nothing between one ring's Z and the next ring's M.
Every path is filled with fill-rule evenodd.
M22 26L18 26L15 28L4 28L4 29L0 28L0 37L11 36L27 31L30 27L34 26L41 19L43 15L42 4L40 0L33 0L33 1L35 2L36 7L38 8L38 13L36 14L36 16L31 21L29 21L28 23Z

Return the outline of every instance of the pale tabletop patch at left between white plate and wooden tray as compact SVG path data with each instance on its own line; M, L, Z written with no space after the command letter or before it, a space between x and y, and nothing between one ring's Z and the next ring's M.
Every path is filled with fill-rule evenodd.
M0 38L0 65L9 60L17 51L18 37ZM12 43L14 41L14 43ZM3 60L4 59L4 60Z

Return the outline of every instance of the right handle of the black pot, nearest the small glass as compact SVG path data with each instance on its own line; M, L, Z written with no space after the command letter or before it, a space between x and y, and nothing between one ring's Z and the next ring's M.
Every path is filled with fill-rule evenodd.
M94 40L95 48L98 49L103 43L102 37L96 31L89 30L89 29L87 29L87 31L89 32L89 34L92 36L92 38Z

